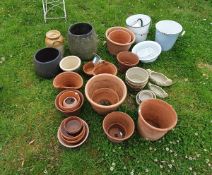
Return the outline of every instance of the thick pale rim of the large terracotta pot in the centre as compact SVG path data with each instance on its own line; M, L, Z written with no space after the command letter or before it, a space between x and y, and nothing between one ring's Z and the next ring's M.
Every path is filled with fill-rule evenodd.
M124 87L124 94L123 94L123 97L122 97L122 99L120 99L119 100L119 102L117 102L116 104L113 104L113 105L109 105L109 106L105 106L105 105L100 105L100 104L98 104L98 103L96 103L95 101L93 101L91 98L90 98L90 96L88 95L88 92L87 92L87 86L88 86L88 83L92 80L92 79L94 79L95 77L97 77L97 76L108 76L108 77L111 77L111 78L116 78L116 80L117 81L120 81L121 82L121 84L123 85L123 87ZM124 102L124 100L126 99L126 97L127 97L127 87L126 87L126 85L125 85L125 83L122 81L122 79L120 79L119 77L117 77L116 75L112 75L112 74L107 74L107 73L103 73L103 74L98 74L98 75L95 75L95 76L93 76L92 78L90 78L88 81L87 81L87 83L86 83L86 85L85 85L85 96L86 96L86 98L88 99L88 101L93 105L93 104L95 104L95 106L97 106L97 107L100 107L100 108L105 108L105 109L111 109L111 108L113 108L113 107L116 107L116 106L119 106L119 105L121 105L123 102Z

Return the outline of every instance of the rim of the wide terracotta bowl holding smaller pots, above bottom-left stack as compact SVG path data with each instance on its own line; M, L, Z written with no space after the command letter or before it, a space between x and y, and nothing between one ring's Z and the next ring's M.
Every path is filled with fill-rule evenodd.
M59 96L61 95L61 94L63 94L64 92L67 92L67 91L74 91L74 92L77 92L77 93L79 93L79 96L81 97L81 103L80 103L80 105L79 105L79 107L77 107L76 109L74 109L74 110L72 110L72 111L69 111L69 110L62 110L58 105L57 105L57 103L58 103L58 100L59 100ZM83 94L82 94L82 92L80 92L79 90L63 90L63 91L61 91L57 96L56 96L56 98L55 98L55 107L60 111L60 112L62 112L62 113L74 113L74 112L76 112L77 110L79 110L81 107L82 107L82 105L83 105L83 103L84 103L84 97L83 97Z

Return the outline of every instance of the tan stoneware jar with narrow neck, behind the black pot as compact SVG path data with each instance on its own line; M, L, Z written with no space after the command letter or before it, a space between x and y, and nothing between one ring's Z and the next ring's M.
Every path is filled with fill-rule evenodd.
M46 47L53 47L60 51L62 57L64 55L64 38L58 30L50 30L46 33Z

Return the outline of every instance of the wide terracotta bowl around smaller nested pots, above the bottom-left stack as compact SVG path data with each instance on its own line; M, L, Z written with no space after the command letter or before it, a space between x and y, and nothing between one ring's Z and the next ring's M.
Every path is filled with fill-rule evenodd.
M61 109L60 106L59 106L59 97L60 97L63 93L66 93L66 92L69 92L69 91L74 91L74 92L77 92L77 93L79 94L79 96L80 96L80 101L81 101L81 102L80 102L80 105L79 105L77 108L71 109L71 110L68 110L68 109ZM80 91L78 91L78 90L64 90L64 91L60 92L60 93L56 96L56 98L55 98L55 107L56 107L60 112L64 113L65 115L69 115L69 116L70 116L70 115L78 115L78 114L80 113L80 109L81 109L83 103L84 103L84 96L83 96L83 94L82 94Z

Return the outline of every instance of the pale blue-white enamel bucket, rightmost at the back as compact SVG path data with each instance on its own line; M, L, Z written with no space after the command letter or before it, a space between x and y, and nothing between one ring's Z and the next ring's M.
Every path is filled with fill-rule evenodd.
M179 35L183 36L183 27L172 20L162 20L156 23L155 41L161 45L162 51L170 50Z

